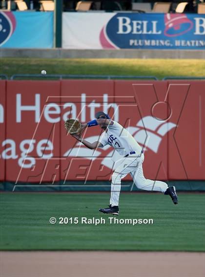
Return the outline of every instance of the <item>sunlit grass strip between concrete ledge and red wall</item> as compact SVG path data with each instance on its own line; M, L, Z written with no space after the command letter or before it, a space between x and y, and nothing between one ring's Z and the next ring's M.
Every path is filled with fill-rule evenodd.
M1 58L0 74L97 74L97 75L152 75L205 76L202 59L45 59Z

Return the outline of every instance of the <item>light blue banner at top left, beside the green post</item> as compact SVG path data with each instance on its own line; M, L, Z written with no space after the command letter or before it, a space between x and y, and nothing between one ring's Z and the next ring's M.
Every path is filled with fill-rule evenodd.
M52 48L53 12L0 11L1 48Z

